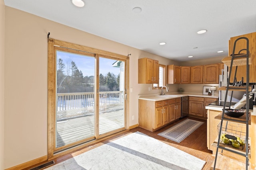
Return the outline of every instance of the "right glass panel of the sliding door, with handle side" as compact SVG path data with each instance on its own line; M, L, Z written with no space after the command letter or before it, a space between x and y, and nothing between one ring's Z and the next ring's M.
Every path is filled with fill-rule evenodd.
M125 128L125 62L99 57L99 135Z

